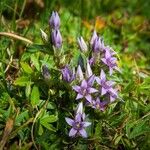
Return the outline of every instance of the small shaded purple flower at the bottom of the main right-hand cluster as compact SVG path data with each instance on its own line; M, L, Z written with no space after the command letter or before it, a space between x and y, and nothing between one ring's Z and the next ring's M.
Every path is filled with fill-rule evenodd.
M100 99L97 97L95 101L93 101L92 108L99 109L101 111L104 111L106 108L107 102L106 101L100 101Z

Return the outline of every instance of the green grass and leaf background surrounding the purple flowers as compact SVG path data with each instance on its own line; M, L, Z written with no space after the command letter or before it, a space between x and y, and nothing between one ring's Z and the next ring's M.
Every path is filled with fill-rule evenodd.
M150 1L144 0L0 1L0 32L13 32L41 45L40 28L49 31L49 16L57 10L68 59L73 55L76 61L77 37L82 35L89 40L95 27L105 43L118 52L122 68L122 73L114 78L122 101L113 103L95 119L98 124L89 139L76 142L68 138L63 120L65 111L73 110L64 110L62 102L71 98L64 97L61 91L58 94L54 83L42 77L44 64L52 74L60 76L52 68L54 63L47 51L44 47L31 49L24 41L0 35L0 149L34 149L35 142L38 149L52 150L149 150L149 9ZM57 77L53 82L57 82ZM62 108L61 112L56 111L57 107Z

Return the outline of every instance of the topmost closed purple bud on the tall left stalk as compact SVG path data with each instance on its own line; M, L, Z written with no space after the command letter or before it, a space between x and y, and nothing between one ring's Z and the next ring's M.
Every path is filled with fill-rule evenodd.
M60 27L60 18L57 12L52 12L52 15L50 17L49 20L49 24L50 26L54 29L54 30L58 30Z

